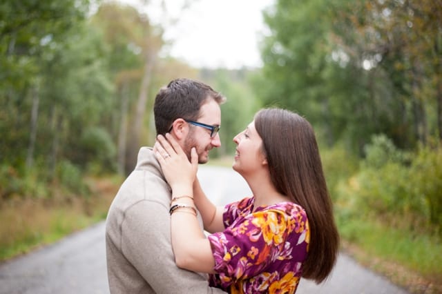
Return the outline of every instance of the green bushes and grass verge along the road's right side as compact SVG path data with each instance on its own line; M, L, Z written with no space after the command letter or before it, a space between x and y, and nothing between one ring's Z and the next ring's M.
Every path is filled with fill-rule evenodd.
M410 293L441 293L441 146L404 154L381 135L365 150L321 153L343 251Z

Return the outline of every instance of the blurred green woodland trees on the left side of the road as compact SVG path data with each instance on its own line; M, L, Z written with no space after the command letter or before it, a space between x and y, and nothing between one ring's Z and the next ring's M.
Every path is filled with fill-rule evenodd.
M124 29L113 35L117 40L87 16L86 0L0 4L0 163L10 166L2 175L20 181L38 170L37 181L63 182L63 175L83 173L93 162L99 170L115 168L121 109L116 93L124 81L128 95L137 95L144 60L137 46L157 46L143 39L153 28L137 10L115 10L126 11L122 21L111 14L100 25ZM2 197L34 194L1 190L10 191Z

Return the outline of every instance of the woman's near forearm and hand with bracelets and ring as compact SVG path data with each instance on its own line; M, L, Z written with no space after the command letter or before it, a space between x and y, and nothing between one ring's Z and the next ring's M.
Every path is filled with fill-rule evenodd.
M209 240L201 231L196 212L192 208L195 206L193 199L182 197L193 196L198 155L195 148L192 148L189 162L171 135L166 134L166 137L169 142L161 135L158 136L154 150L164 177L172 188L171 238L175 262L180 268L189 271L214 273L215 259Z

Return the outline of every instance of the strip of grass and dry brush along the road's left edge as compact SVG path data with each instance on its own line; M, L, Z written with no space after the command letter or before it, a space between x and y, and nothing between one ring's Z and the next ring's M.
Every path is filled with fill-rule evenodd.
M93 197L12 199L0 206L0 261L28 253L106 218L121 178L88 179Z

